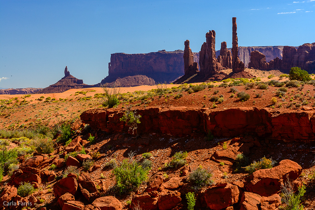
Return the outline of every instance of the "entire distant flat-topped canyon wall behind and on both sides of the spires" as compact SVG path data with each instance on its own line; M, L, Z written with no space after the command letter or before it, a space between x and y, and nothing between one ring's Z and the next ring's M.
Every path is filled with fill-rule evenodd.
M231 50L232 48L228 48ZM283 46L263 46L263 47L238 47L240 60L248 66L250 52L257 50L266 55L266 60L270 61L276 57L282 59ZM216 51L216 57L220 55L220 50ZM111 54L111 62L108 64L108 76L101 83L114 82L118 77L123 78L134 75L146 75L156 82L171 82L185 74L184 72L184 51L160 50L152 53L141 54ZM194 62L199 63L199 52L193 53Z

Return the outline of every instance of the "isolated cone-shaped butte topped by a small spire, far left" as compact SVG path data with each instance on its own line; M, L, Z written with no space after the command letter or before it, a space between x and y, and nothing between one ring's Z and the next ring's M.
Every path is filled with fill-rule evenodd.
M42 90L37 91L34 94L62 93L70 89L90 88L90 87L92 87L92 85L84 84L82 79L77 79L76 77L73 77L68 71L68 68L66 66L64 77L62 77L55 84L49 85L49 87L43 88Z

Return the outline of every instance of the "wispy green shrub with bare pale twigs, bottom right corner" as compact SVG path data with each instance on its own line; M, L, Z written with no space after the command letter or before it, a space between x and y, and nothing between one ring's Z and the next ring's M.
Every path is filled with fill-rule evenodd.
M281 192L283 197L281 201L285 203L285 210L303 210L303 205L301 204L301 197L305 193L305 185L303 184L299 187L297 193L294 192L294 184L291 180L287 179L284 184L281 184Z

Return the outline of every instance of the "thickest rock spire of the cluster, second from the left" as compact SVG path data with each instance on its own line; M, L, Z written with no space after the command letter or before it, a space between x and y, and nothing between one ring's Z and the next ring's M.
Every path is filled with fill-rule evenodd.
M215 31L206 33L206 42L203 43L199 52L200 72L204 75L214 75L218 70L215 56Z

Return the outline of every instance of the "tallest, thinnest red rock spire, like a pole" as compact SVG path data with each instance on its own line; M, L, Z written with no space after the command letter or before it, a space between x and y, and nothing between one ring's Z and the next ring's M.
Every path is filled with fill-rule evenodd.
M232 72L237 73L245 70L244 63L238 57L238 38L236 18L232 18Z

